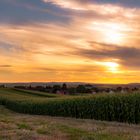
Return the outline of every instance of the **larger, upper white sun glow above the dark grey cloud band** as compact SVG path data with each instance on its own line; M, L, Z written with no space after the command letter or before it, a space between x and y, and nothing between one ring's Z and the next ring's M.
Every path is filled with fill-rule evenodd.
M125 24L114 22L93 22L89 29L99 34L100 41L111 44L122 44L126 32L130 30Z

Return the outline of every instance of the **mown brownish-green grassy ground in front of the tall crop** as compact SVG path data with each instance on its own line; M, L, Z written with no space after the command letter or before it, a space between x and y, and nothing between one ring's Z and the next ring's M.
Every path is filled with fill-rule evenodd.
M0 140L140 140L140 125L24 115L0 106Z

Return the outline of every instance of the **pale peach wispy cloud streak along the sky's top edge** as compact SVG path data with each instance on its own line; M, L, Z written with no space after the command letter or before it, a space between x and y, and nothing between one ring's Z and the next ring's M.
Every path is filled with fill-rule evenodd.
M81 10L81 11L90 11L96 12L101 15L114 15L120 14L126 17L133 16L133 12L138 12L136 8L127 8L122 7L119 4L113 5L113 3L101 3L98 1L83 1L83 0L43 0L46 3L52 3L58 5L62 8L72 9L72 10Z

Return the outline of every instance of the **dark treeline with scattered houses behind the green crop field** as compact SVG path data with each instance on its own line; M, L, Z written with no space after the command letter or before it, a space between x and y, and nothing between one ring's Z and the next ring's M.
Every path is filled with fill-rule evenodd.
M130 87L116 87L116 88L107 88L107 87L95 87L91 84L79 84L78 86L68 86L67 84L56 84L56 85L46 85L46 86L15 86L18 89L27 89L27 90L36 90L47 93L56 93L56 94L96 94L96 93L129 93L133 91L139 91L139 88L130 88Z

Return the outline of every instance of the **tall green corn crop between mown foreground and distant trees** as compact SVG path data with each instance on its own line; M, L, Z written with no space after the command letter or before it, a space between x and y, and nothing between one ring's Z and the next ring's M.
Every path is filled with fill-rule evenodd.
M0 104L20 113L140 123L139 93L55 98L24 94L0 93Z

